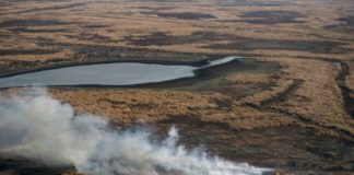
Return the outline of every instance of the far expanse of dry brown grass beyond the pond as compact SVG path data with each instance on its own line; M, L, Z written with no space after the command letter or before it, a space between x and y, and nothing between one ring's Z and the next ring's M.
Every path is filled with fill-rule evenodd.
M353 35L345 32L335 32L326 30L324 26L337 25L341 22L339 18L350 14L353 3L341 1L340 3L330 1L296 1L283 3L274 1L281 5L258 7L258 5L216 5L215 1L199 0L196 3L160 3L150 2L149 4L129 1L82 1L71 0L69 2L13 2L13 5L2 8L0 21L8 22L12 20L39 20L44 24L34 25L35 22L28 22L27 26L11 23L0 27L0 46L3 49L34 49L52 48L56 44L68 45L92 45L92 46L111 46L130 48L149 48L185 52L224 52L224 54L256 54L269 57L309 57L309 58L334 58L349 60L353 58L353 51L344 54L321 54L297 50L280 49L212 49L210 44L237 42L239 37L248 39L279 39L279 40L307 40L307 42L341 42L343 47L353 49ZM76 5L79 4L79 5ZM200 5L203 4L203 5ZM72 5L72 7L70 7ZM50 9L52 7L68 7ZM340 9L340 10L339 10ZM279 23L271 25L249 24L247 22L237 22L245 20L240 18L243 13L250 11L291 11L303 14L297 19L302 23ZM339 13L341 11L341 13ZM157 13L203 13L214 15L215 19L182 20L158 16ZM49 24L46 24L49 21ZM228 22L227 22L228 21ZM59 24L50 24L59 22ZM60 24L62 23L62 24ZM26 32L16 30L39 30L39 32ZM40 30L63 30L62 32L40 32ZM131 44L127 37L135 38L152 35L156 32L163 32L168 36L189 36L193 32L210 32L216 35L229 35L229 38L220 39L200 39L196 42L186 42L180 44L158 45L153 43L146 46ZM44 44L43 39L50 40L54 46ZM173 42L173 40L172 40ZM72 58L75 48L68 47L70 51L61 55L22 55L22 56L1 56L7 59L52 59L52 58Z

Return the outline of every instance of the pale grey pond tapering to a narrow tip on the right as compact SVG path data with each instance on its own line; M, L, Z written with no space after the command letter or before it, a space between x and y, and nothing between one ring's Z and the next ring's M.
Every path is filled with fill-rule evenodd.
M32 85L137 85L196 77L196 71L240 57L213 60L201 67L156 63L101 63L50 69L0 79L0 88Z

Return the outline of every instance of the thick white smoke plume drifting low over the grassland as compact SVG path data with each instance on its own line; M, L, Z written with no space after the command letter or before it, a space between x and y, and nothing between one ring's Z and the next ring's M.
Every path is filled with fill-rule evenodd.
M104 117L75 115L46 92L0 98L0 154L73 164L88 175L259 175L269 170L178 145L172 128L163 141L146 130L113 130Z

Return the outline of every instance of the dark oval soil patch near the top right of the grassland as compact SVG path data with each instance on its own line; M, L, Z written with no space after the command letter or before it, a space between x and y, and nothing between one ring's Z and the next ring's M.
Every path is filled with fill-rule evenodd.
M304 16L304 14L292 11L252 11L240 15L244 20L239 22L250 24L302 23L297 19Z

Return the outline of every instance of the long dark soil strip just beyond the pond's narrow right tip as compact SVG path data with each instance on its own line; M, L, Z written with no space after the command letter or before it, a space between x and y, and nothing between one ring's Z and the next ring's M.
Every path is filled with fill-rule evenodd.
M341 47L338 42L302 42L302 40L268 40L268 39L249 39L234 42L231 44L214 44L208 46L211 49L274 49L274 50L298 50L317 54L346 54L350 49Z

